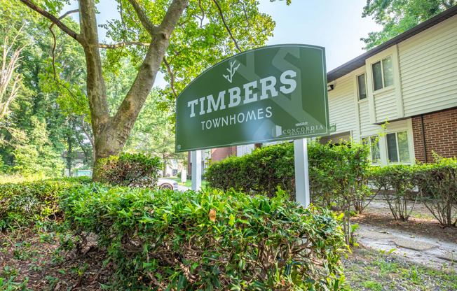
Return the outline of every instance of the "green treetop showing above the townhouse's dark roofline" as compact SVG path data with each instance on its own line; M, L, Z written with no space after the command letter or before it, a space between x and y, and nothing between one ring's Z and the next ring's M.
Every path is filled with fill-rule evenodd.
M362 17L371 16L382 31L361 40L369 50L456 5L456 0L367 0Z

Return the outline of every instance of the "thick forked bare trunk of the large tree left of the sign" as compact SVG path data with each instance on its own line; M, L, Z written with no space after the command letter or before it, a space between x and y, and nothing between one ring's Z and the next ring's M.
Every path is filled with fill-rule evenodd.
M138 0L127 0L134 8L142 26L151 36L151 43L132 87L113 117L109 116L107 91L99 51L100 47L107 48L108 46L98 43L95 0L79 0L80 34L72 31L59 18L36 6L31 0L20 1L48 18L83 46L86 55L87 90L94 135L94 167L97 166L100 159L118 155L130 135L146 97L151 92L156 74L168 48L170 35L184 9L189 6L189 0L173 0L160 25L151 22ZM97 173L94 174L93 180L99 180Z

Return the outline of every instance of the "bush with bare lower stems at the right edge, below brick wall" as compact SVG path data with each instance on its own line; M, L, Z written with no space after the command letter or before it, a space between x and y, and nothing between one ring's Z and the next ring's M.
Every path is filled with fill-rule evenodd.
M435 164L417 167L414 183L421 201L444 227L457 224L457 159L436 157ZM453 211L454 209L454 211Z

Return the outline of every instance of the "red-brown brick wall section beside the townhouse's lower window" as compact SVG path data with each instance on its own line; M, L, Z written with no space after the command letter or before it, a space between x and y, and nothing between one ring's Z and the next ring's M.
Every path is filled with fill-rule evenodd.
M416 159L425 162L421 115L411 118ZM457 108L423 115L427 162L435 162L432 151L441 157L457 157Z

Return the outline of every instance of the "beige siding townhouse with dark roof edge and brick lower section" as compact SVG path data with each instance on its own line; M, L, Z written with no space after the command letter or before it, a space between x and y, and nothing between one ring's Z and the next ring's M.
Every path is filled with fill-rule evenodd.
M457 156L457 6L330 71L327 80L336 132L322 142L367 142L374 164L432 162L432 151Z

